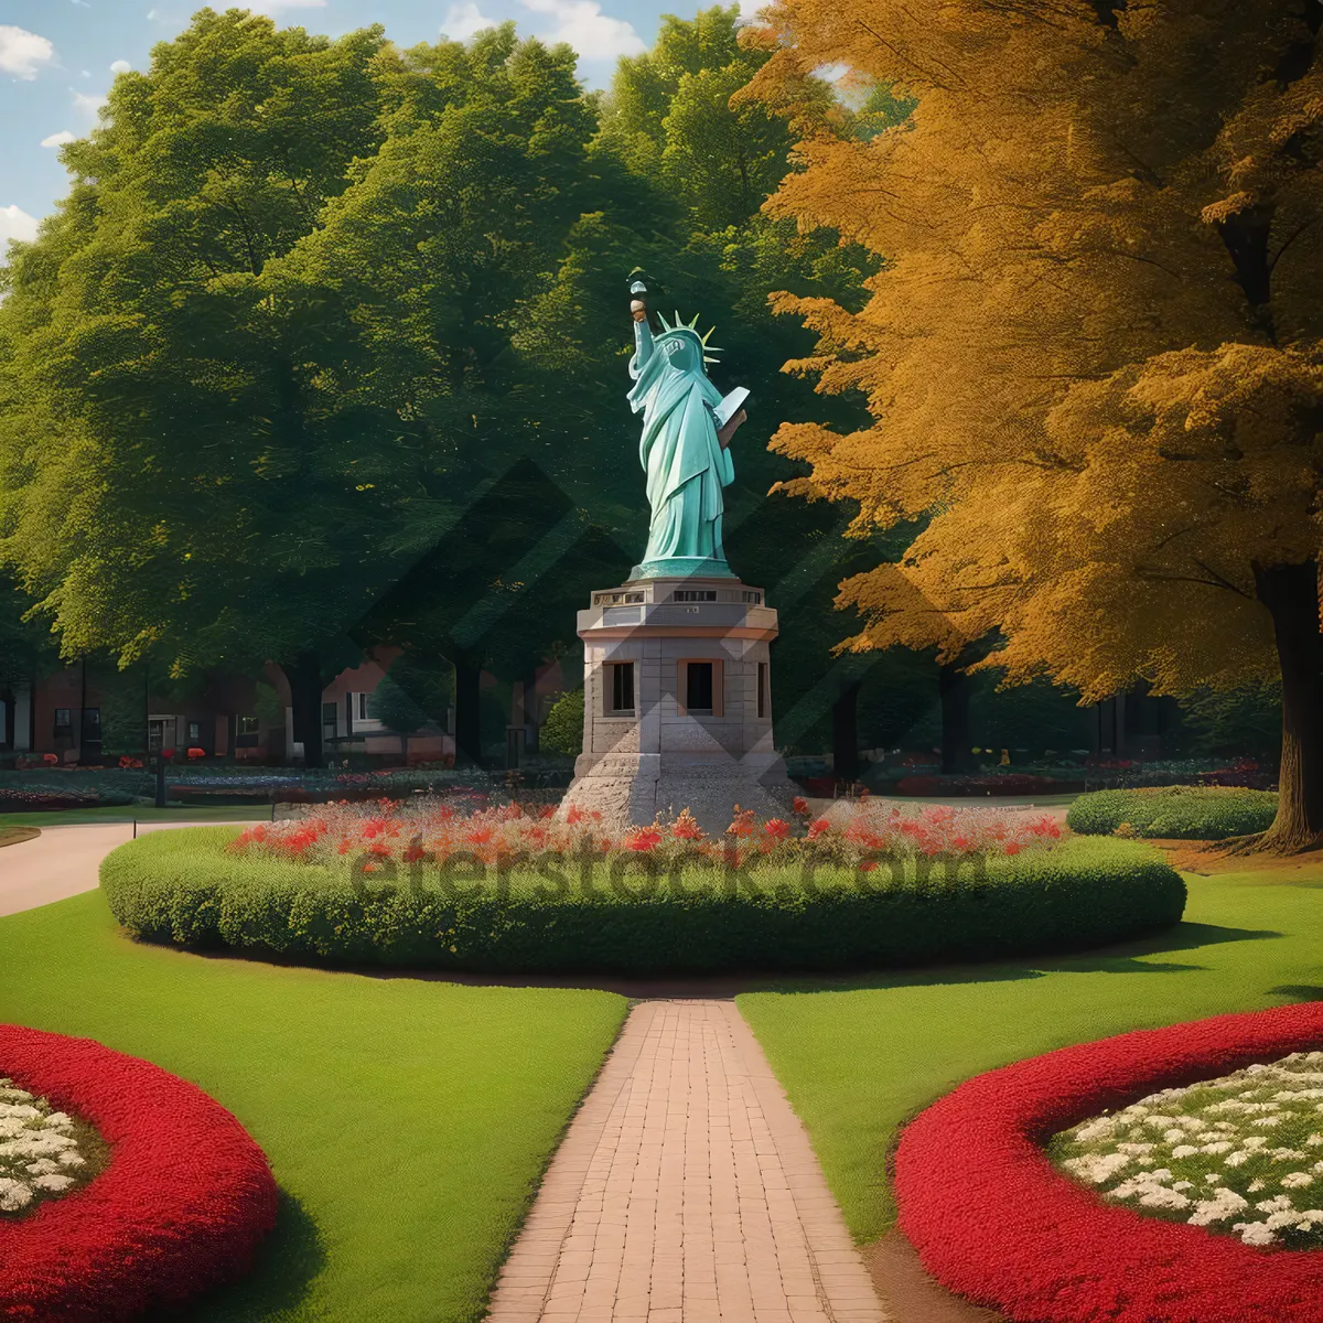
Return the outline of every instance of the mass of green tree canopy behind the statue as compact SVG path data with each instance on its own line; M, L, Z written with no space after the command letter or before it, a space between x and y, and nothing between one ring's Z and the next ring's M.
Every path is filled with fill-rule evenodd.
M782 610L778 721L819 738L877 669L832 656L836 585L885 548L769 496L802 471L763 448L775 425L848 430L865 397L781 373L815 336L767 296L853 315L881 262L763 204L808 163L796 131L859 146L910 103L852 110L811 69L774 103L734 95L770 58L717 7L589 94L568 46L511 24L402 50L204 9L122 75L0 274L0 561L64 655L275 660L316 762L323 684L394 643L454 665L480 757L480 671L570 651L576 607L643 542L623 370L643 265L717 321L718 382L754 392L726 544Z

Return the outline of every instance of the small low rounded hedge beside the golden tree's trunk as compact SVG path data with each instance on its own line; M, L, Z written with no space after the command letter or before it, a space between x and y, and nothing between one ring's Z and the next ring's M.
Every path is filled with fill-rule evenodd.
M1122 828L1122 835L1155 840L1226 840L1267 831L1275 816L1274 790L1163 786L1081 795L1066 814L1066 826L1089 836L1110 836Z

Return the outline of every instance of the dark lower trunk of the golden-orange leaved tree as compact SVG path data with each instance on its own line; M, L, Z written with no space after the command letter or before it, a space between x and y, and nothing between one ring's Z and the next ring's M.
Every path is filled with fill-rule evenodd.
M1270 851L1323 845L1323 635L1319 566L1254 566L1259 602L1273 617L1282 668L1282 766L1273 826L1256 843Z

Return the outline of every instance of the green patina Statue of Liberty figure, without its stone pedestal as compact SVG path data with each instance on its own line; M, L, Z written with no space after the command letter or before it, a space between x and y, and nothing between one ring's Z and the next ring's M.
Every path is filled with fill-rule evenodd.
M734 578L721 546L721 488L734 482L730 438L745 421L745 389L722 396L708 380L708 335L676 314L675 325L648 323L646 279L631 275L634 357L630 405L643 414L639 459L647 474L652 521L643 561L631 578L714 576Z

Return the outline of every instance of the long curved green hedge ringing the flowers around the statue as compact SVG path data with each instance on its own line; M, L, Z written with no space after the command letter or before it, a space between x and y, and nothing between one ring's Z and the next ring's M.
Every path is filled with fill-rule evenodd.
M249 947L312 963L487 972L884 968L1078 950L1180 919L1185 885L1151 847L1068 840L968 861L913 860L808 885L785 867L650 878L646 860L544 863L504 877L406 868L360 876L226 849L232 827L155 832L102 863L115 918L153 942ZM623 872L620 869L624 869ZM614 875L614 876L613 876Z

